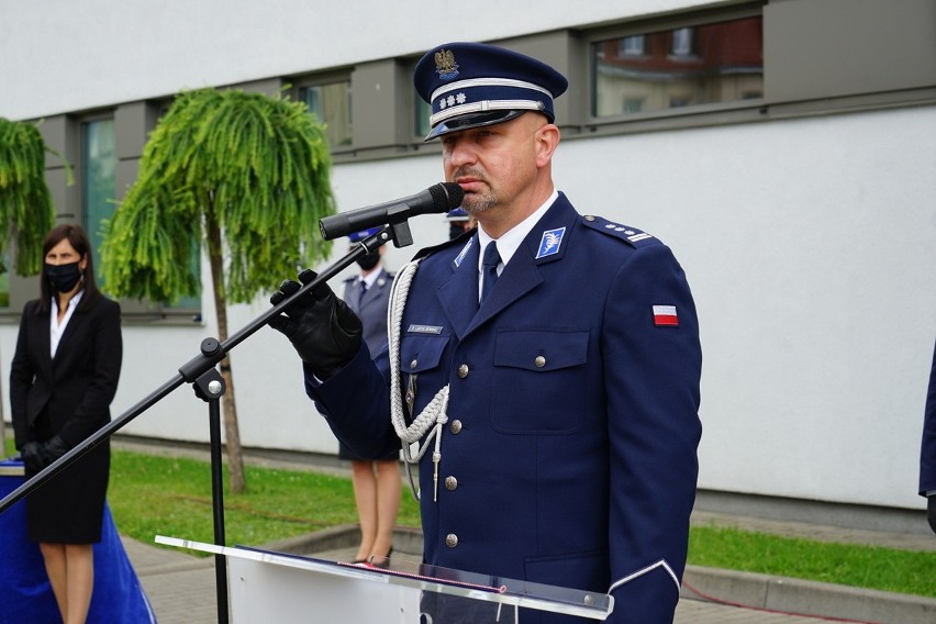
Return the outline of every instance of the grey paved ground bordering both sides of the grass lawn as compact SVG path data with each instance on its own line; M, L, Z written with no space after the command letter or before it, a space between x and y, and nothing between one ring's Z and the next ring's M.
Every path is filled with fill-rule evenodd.
M116 444L123 445L124 448L145 449L151 453L207 457L203 449L154 448L148 445L140 447L126 442ZM245 459L256 464L296 468L296 464L288 457L245 455ZM345 468L337 463L320 464L310 469L339 473L345 471ZM693 514L692 522L734 525L811 539L936 550L936 537L925 533L847 530L813 523L780 522L701 511ZM394 547L402 556L412 554L417 557L419 542L417 534L403 532L399 539L394 541ZM194 557L180 549L141 544L131 539L124 539L124 545L160 624L219 622L213 557ZM356 536L353 528L338 527L323 534L313 534L288 543L271 545L270 549L346 561L354 556L355 545ZM934 571L934 582L936 582L936 571ZM305 621L316 622L314 614L310 614ZM677 609L675 622L676 624L818 624L829 621L933 624L936 622L936 600L690 566L686 573L682 600Z

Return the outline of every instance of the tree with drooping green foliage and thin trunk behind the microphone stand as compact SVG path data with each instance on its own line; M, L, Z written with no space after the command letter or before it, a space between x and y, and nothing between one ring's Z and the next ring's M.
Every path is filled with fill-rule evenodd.
M227 303L271 292L324 259L334 214L324 129L301 102L239 90L179 93L149 136L136 182L104 225L104 283L119 297L197 296L208 254L218 338ZM196 244L194 242L198 242ZM230 354L221 363L231 491L245 489Z

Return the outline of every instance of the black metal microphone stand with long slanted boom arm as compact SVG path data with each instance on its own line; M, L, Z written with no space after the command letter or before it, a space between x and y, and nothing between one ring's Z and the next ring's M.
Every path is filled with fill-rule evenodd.
M399 219L399 215L397 215L397 219ZM391 220L393 220L392 216ZM165 399L182 383L193 383L196 395L207 401L209 404L214 544L218 546L225 546L220 415L220 399L224 394L225 386L221 374L216 368L214 368L215 365L224 359L231 349L247 339L261 327L266 326L271 317L280 314L293 300L308 293L320 283L335 277L358 258L369 254L370 252L377 250L380 246L390 241L393 242L395 247L405 247L413 244L409 221L402 220L389 223L379 232L360 241L344 257L339 258L335 264L319 274L315 279L307 285L302 285L298 291L247 323L243 328L230 336L223 343L220 343L215 338L204 338L200 345L201 355L198 355L183 364L179 368L178 375L174 376L171 379L135 403L132 408L123 412L120 416L111 420L111 422L107 425L81 441L75 448L46 466L37 475L34 475L22 486L7 494L2 500L0 500L0 513L3 513L21 499L27 497L46 481L65 470L82 455L93 449L136 416ZM224 555L215 555L215 589L218 600L218 622L220 624L229 622L226 577L226 558Z

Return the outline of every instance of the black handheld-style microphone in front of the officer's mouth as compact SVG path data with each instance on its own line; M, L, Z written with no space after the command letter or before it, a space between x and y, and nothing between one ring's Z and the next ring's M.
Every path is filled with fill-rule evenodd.
M461 205L465 191L455 182L439 182L414 196L369 205L319 220L325 241L388 223L402 223L416 214L448 212Z

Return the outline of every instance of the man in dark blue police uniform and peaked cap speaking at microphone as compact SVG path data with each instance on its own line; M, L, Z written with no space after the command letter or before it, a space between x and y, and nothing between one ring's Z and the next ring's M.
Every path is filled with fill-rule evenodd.
M453 43L430 51L414 81L432 104L426 140L441 140L445 179L465 191L477 234L417 254L399 344L376 361L327 286L270 324L359 452L399 444L387 419L397 380L411 416L444 406L426 434L438 453L420 465L427 564L608 592L608 622L669 623L701 436L686 276L658 239L582 216L554 188L559 73ZM298 288L283 282L272 301Z

